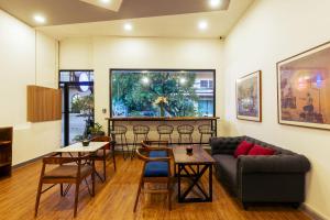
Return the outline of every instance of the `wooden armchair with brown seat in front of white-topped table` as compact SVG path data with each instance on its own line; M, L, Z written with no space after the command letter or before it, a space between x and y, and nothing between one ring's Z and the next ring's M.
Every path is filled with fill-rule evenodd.
M56 153L52 156L43 158L43 166L35 201L35 217L37 216L41 195L57 184L61 186L61 196L63 197L66 196L72 185L76 185L74 216L77 216L79 186L82 180L86 182L88 193L91 195L91 197L95 196L95 163L94 161L91 161L91 163L86 163L86 161L89 160L90 155L79 157L62 157L61 153ZM54 165L56 166L55 168L46 170L47 166L54 167ZM87 183L88 176L91 176L91 191ZM52 186L43 190L44 184L52 184ZM68 184L65 189L64 184Z

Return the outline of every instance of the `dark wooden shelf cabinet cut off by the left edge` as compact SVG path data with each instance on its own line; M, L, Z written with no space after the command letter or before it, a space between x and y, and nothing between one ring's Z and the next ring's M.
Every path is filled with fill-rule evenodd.
M0 128L0 178L11 175L12 128Z

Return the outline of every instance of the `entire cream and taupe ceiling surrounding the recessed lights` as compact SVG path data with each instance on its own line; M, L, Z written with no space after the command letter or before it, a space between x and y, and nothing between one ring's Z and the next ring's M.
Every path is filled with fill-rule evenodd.
M89 1L89 2L87 2ZM94 2L92 2L94 1ZM211 10L208 0L112 0L105 9L96 0L0 0L0 8L57 40L82 36L151 36L219 38L227 36L254 0L222 0ZM37 26L33 13L47 22ZM199 30L206 21L208 29ZM123 29L132 24L131 31Z

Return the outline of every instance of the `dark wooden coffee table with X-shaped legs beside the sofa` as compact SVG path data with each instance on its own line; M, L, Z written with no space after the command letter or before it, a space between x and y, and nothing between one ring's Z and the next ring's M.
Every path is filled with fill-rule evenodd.
M174 146L174 170L178 182L179 202L207 202L212 201L212 165L216 161L201 146L194 145L193 154L187 154L187 145ZM178 172L176 173L176 169ZM200 184L202 175L209 170L208 194ZM189 186L182 191L182 180L188 179ZM196 187L202 197L187 198L188 194Z

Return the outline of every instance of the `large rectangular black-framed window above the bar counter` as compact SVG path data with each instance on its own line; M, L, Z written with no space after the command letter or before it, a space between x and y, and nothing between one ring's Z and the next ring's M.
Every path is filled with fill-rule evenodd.
M112 117L215 116L215 70L111 69L110 91Z

